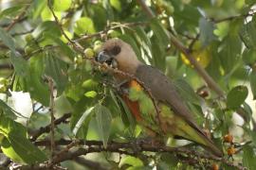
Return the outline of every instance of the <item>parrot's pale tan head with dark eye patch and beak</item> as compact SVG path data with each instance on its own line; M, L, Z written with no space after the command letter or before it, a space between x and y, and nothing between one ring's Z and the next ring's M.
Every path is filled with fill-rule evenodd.
M133 48L119 39L111 39L102 44L97 60L121 71L134 74L140 63Z

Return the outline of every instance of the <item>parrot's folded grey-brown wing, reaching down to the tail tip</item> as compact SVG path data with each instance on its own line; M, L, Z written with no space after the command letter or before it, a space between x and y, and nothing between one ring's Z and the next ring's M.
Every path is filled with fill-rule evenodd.
M175 115L182 117L196 131L200 139L204 141L204 145L210 148L216 155L222 156L222 152L210 141L202 129L196 125L192 112L182 101L176 92L173 82L167 76L158 69L144 64L137 67L135 76L144 83L143 85L151 91L157 101L169 105L174 110Z

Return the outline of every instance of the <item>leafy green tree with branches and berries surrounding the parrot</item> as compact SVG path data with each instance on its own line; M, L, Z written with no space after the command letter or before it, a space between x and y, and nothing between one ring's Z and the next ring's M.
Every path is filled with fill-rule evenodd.
M255 12L254 0L1 1L0 168L254 169ZM174 80L223 158L141 140L119 71L95 60L112 38Z

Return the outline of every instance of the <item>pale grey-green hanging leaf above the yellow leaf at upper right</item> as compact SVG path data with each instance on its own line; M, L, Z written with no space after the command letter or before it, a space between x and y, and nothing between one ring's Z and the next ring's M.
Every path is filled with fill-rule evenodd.
M216 36L213 34L215 28L214 23L200 18L199 20L200 36L199 40L202 42L202 46L207 46L211 41L216 40Z

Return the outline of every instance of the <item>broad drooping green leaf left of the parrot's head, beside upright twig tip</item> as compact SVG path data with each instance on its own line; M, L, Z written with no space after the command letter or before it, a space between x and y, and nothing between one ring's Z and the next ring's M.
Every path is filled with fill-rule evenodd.
M57 55L52 52L46 53L45 64L46 76L53 78L57 85L57 96L59 96L64 92L67 83L67 64L63 60L57 58Z

